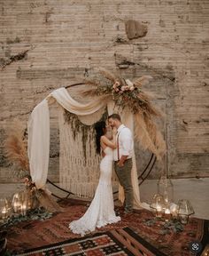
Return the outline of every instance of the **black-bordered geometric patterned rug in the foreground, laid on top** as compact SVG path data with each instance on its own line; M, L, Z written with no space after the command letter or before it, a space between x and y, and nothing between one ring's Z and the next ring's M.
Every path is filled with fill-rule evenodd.
M14 254L17 255L17 254ZM62 243L50 244L32 250L26 250L19 256L166 256L135 235L130 228L115 229L83 238L74 238Z

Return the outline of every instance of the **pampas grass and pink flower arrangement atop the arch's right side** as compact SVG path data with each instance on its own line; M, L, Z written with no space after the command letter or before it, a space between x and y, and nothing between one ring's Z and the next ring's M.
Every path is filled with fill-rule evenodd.
M151 94L142 90L143 84L149 83L152 77L142 76L132 82L104 68L100 68L100 75L96 79L84 81L84 84L92 86L83 92L84 95L103 96L101 100L109 98L120 111L128 108L135 117L136 140L141 142L144 149L150 149L161 159L166 152L166 143L154 118L162 117L162 114L151 104Z

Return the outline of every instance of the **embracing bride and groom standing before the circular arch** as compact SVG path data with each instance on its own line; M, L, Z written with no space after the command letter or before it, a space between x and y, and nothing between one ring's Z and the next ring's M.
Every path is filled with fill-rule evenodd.
M132 133L128 127L121 123L120 115L118 114L109 116L108 124L112 127L112 140L107 138L105 122L102 121L95 124L97 153L104 156L100 162L100 177L95 196L81 219L74 220L69 224L69 228L75 234L80 234L81 236L106 224L120 221L120 216L116 216L114 212L112 161L120 185L125 192L124 212L127 214L133 210L131 169L134 141ZM117 133L114 132L115 128Z

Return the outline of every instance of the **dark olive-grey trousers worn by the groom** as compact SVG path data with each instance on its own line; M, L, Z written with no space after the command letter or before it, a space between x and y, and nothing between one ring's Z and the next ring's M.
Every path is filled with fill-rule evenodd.
M117 163L118 161L114 162L114 170L119 178L120 185L124 188L125 212L131 212L133 209L133 186L131 182L132 159L127 159L121 167Z

